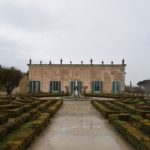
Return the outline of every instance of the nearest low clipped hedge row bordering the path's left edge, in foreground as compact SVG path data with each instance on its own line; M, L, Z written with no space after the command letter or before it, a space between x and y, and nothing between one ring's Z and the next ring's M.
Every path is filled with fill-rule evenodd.
M28 122L19 130L12 132L0 143L1 150L24 150L48 124L49 119L49 113L42 113L38 119Z

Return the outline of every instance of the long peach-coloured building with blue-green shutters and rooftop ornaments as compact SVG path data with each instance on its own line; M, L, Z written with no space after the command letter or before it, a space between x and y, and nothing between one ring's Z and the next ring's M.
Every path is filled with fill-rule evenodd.
M125 88L125 64L32 64L29 67L30 93L114 93Z

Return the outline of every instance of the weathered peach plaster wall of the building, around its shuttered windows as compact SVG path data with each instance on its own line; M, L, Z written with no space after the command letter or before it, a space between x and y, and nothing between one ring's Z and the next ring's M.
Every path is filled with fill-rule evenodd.
M121 91L124 90L125 64L29 64L29 81L40 81L41 91L49 92L50 81L61 81L61 90L70 87L71 81L81 81L82 86L87 86L87 92L91 92L92 81L103 82L103 92L112 92L112 82L121 83Z

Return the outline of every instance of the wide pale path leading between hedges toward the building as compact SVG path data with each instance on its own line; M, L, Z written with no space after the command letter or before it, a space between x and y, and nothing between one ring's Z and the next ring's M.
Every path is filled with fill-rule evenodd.
M29 150L134 150L90 101L64 101Z

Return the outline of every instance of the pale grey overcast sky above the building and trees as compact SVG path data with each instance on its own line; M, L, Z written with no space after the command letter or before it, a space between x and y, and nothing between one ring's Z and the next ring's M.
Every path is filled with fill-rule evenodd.
M121 63L150 79L150 0L0 0L0 64Z

